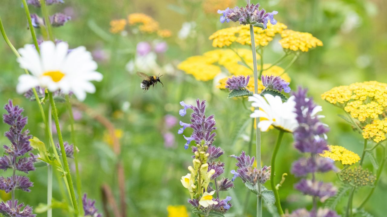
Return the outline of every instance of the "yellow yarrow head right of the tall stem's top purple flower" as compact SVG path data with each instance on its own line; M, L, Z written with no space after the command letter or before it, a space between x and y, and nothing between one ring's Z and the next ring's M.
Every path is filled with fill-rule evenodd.
M322 41L313 37L308 32L297 32L293 30L284 30L281 33L282 39L279 43L284 49L290 49L292 51L307 52L310 48L322 46Z

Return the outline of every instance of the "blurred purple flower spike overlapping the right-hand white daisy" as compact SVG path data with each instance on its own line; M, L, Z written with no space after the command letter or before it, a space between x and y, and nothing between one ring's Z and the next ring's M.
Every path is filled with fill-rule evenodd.
M292 165L292 173L296 176L307 176L312 174L312 179L303 178L294 186L305 195L310 195L313 198L320 198L324 202L327 198L336 194L336 187L332 183L324 183L315 180L315 173L325 173L330 170L337 170L334 166L334 161L329 158L322 158L321 154L324 150L328 150L325 140L325 133L328 128L320 122L321 107L315 105L312 98L307 98L307 90L301 88L298 92L293 93L295 98L295 113L298 127L293 132L295 139L295 147L301 153L310 153L308 158L300 158ZM289 217L298 216L322 216L322 217L338 217L336 212L328 209L317 209L316 203L313 203L313 209L309 212L306 209L295 210Z

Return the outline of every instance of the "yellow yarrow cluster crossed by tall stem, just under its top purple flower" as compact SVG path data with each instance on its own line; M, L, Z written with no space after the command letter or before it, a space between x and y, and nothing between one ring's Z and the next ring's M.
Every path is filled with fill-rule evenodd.
M276 25L272 25L270 22L267 23L266 29L254 27L256 46L266 46L273 40L275 34L281 34L281 32L283 32L286 28L288 28L286 25L279 22ZM227 47L233 42L242 45L251 45L250 27L247 25L239 25L237 27L221 29L214 32L209 39L212 40L212 46L214 47Z

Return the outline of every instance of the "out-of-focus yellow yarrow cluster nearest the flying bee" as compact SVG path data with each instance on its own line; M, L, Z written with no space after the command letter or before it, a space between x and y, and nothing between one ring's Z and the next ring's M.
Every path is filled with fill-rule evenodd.
M237 49L236 53L253 67L253 58L249 49ZM198 81L209 81L219 75L226 68L232 75L250 75L252 71L239 64L242 60L231 49L217 49L208 51L202 56L192 56L181 62L177 68L185 73L193 75Z

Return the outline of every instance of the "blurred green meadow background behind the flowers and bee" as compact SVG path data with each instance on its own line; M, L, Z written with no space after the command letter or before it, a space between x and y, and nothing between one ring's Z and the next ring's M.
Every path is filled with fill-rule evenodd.
M207 1L207 0L204 0ZM238 5L245 2L239 1ZM334 86L348 85L357 81L377 80L386 82L387 76L387 2L384 0L263 0L262 7L268 11L277 10L276 19L288 25L289 29L310 32L324 42L304 53L287 71L292 78L291 87L309 88L317 103L322 105L324 122L330 126L329 144L344 146L358 154L362 150L362 138L352 131L349 125L337 117L342 113L336 107L320 99L320 94ZM30 7L31 12L38 11ZM166 216L168 205L187 205L188 192L180 183L180 178L188 173L187 166L192 163L189 150L183 149L185 140L177 134L179 126L171 129L176 133L174 147L164 147L164 115L172 114L188 122L188 117L180 117L179 102L193 102L200 98L207 100L206 114L215 114L217 136L215 144L225 150L221 160L226 163L225 176L231 178L230 170L235 169L235 160L228 155L248 151L251 120L239 100L227 99L227 92L218 90L212 81L196 81L190 75L175 70L164 75L161 81L164 88L158 85L154 90L142 93L141 79L125 70L125 64L133 58L135 46L140 39L122 37L109 33L109 22L112 19L126 19L127 15L141 12L158 20L160 26L170 29L173 36L166 41L169 49L163 59L164 63L173 66L185 58L213 49L208 37L217 29L233 24L220 24L219 14L206 14L200 0L132 0L132 1L66 1L63 5L49 7L50 12L71 12L73 19L65 26L55 29L58 39L67 41L70 47L86 46L89 51L103 49L110 58L99 63L99 72L104 75L101 83L96 83L97 92L88 94L84 103L98 114L108 118L116 129L123 132L120 139L121 158L125 168L125 187L128 216ZM219 8L224 9L224 8ZM15 47L31 44L32 39L27 29L26 16L21 1L7 1L0 7L0 15L7 34ZM183 22L195 21L196 34L187 40L178 39L177 32ZM38 32L38 31L37 31ZM272 41L266 52L265 63L275 61L281 54L276 40ZM23 73L15 61L15 56L0 41L0 104L9 98L25 108L29 116L27 127L31 134L44 138L43 123L36 103L29 102L15 93L17 77ZM270 54L271 53L271 54ZM130 105L130 106L128 106ZM46 111L48 110L45 106ZM65 140L70 140L70 127L65 105L59 104L60 119ZM2 110L1 113L5 112ZM7 130L0 125L0 132ZM82 119L75 124L77 143L80 149L79 161L82 176L82 192L95 198L102 210L101 185L106 183L113 189L118 199L116 176L116 156L109 142L104 139L107 130L94 120L90 114L83 113ZM269 164L272 147L277 131L262 133L262 161ZM106 136L105 136L106 137ZM2 144L7 144L5 137L0 137ZM297 179L289 173L290 165L298 158L293 148L291 134L284 137L278 154L277 175L288 173L280 188L283 208L289 211L311 204L311 198L300 195L293 189ZM255 147L252 147L255 150ZM254 151L252 151L252 155ZM73 161L70 161L70 166ZM370 166L365 161L365 167ZM37 207L46 203L46 170L37 168L29 174L34 182L31 193L17 192L21 202ZM385 215L385 198L387 193L386 174L378 183L377 189L365 206L375 216ZM336 180L332 173L321 177ZM58 184L54 178L54 198L60 199ZM370 188L356 193L354 207L362 201ZM235 189L231 190L233 207L230 214L241 216L243 207L247 213L255 215L256 199L250 195L245 203L247 189L240 180L236 180ZM2 194L3 195L3 194ZM226 196L226 195L224 195ZM6 196L2 196L3 199ZM264 216L269 214L264 213ZM39 214L38 216L45 216ZM54 216L65 216L60 210L54 210Z

